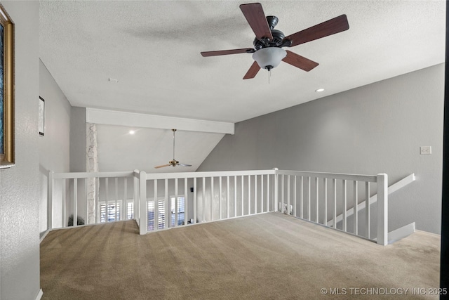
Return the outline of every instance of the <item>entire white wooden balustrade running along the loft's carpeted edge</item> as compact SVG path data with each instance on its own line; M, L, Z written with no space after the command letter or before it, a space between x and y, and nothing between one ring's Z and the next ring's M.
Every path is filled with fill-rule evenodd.
M90 196L89 180L95 181L95 193ZM137 170L50 172L48 228L66 227L67 216L73 214L74 226L78 225L75 221L78 216L85 218L86 224L135 219L140 234L144 235L195 223L281 211L387 244L387 181L387 174L278 169L170 174ZM373 195L377 201L361 209ZM89 203L95 205L89 207ZM349 214L350 209L357 213Z

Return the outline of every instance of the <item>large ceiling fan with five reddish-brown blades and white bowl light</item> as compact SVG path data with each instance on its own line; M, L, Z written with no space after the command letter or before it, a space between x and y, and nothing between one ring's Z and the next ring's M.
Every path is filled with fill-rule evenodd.
M282 47L297 46L349 29L346 15L340 15L286 37L283 32L274 29L279 19L274 15L265 17L260 3L241 4L240 9L255 33L255 39L253 41L254 48L206 51L201 52L201 56L253 53L255 62L251 65L248 72L246 72L243 79L254 78L261 68L268 71L272 70L272 68L277 67L281 63L281 60L309 72L319 64L291 51L283 50Z

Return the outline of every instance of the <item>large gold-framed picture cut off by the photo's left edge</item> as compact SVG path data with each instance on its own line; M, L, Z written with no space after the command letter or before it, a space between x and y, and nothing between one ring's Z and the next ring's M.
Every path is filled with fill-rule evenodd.
M14 22L0 4L0 168L14 157Z

